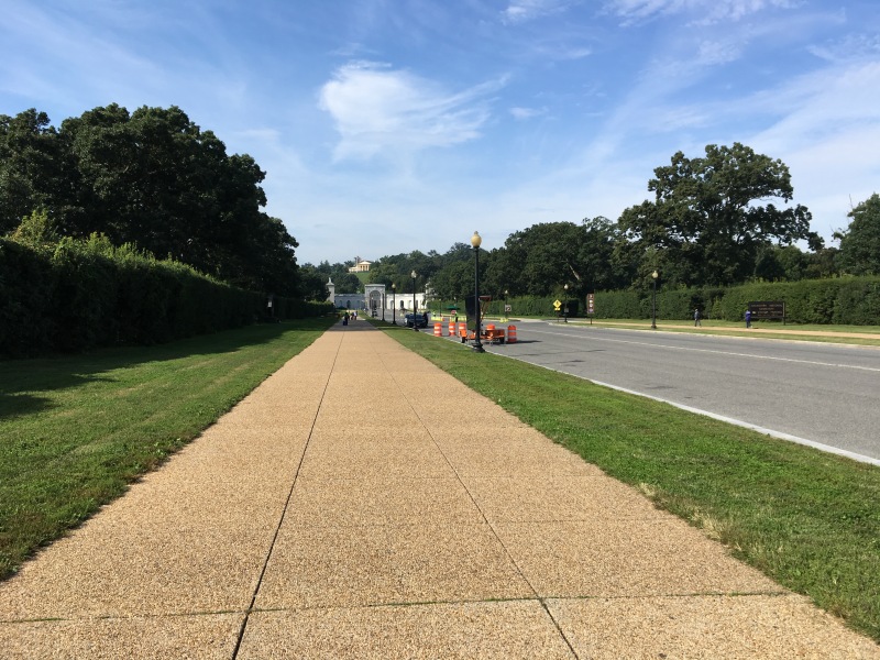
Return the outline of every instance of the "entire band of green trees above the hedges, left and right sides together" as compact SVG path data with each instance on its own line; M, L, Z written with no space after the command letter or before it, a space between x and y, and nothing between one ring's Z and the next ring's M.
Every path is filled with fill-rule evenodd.
M672 287L880 273L876 193L850 209L839 248L829 248L794 204L788 166L749 146L678 152L653 174L654 198L616 220L537 223L483 250L481 290L546 296L568 284L583 298L645 288L654 271ZM35 109L0 114L0 235L14 238L40 212L47 239L103 235L249 290L321 300L329 277L337 290L362 290L349 262L297 263L296 239L262 210L265 175L176 106L129 112L111 103L57 129ZM366 279L408 290L415 270L436 296L462 298L473 290L473 261L465 243L416 250L378 258Z

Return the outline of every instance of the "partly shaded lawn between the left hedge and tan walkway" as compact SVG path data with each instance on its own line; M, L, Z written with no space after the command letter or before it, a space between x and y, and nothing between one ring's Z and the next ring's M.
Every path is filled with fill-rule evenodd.
M196 438L334 320L0 361L0 579Z

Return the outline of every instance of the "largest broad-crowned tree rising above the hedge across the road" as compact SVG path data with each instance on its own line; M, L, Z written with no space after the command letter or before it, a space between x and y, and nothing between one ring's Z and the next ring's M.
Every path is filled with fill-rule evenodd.
M768 245L822 244L805 207L774 204L792 200L788 166L738 142L710 144L697 158L676 153L648 189L654 200L618 220L627 244L618 254L640 275L658 268L669 284L729 285L755 276Z

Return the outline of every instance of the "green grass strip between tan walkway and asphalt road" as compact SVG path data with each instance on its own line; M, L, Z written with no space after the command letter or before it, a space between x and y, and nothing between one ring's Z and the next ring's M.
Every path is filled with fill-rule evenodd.
M880 468L377 326L880 642Z

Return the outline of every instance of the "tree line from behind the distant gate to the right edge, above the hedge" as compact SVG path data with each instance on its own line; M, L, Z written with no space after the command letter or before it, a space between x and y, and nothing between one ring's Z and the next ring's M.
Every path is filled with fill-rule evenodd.
M826 246L810 229L809 209L788 206L794 195L788 166L740 143L710 144L696 158L678 152L670 165L654 169L648 190L653 200L624 210L616 221L598 216L513 232L504 245L483 251L481 293L543 297L562 295L568 285L570 297L583 299L591 292L644 290L653 272L673 288L880 274L880 196L853 207L849 227L834 234L839 248ZM362 283L350 265L305 264L304 283L316 296L326 292L328 277L337 290L356 293ZM465 243L443 254L383 256L366 282L409 290L413 270L438 298L473 294L473 249Z

